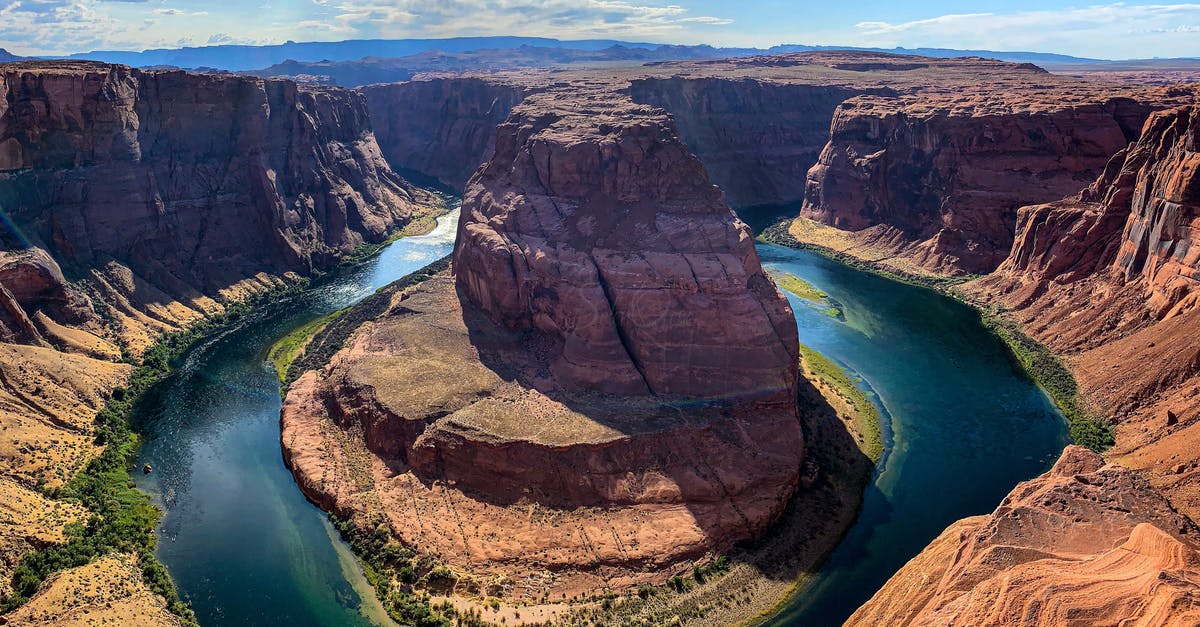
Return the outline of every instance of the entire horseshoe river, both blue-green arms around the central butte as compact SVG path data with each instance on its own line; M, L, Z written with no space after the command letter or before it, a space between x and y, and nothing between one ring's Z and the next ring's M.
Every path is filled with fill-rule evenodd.
M138 486L167 509L158 557L202 625L382 625L348 547L284 468L278 380L266 351L450 252L457 213L353 273L290 297L191 351L145 398ZM772 271L836 300L792 298L800 341L859 375L890 418L862 515L814 583L774 620L836 625L950 521L990 510L1045 470L1066 432L978 316L932 292L816 255L760 245Z

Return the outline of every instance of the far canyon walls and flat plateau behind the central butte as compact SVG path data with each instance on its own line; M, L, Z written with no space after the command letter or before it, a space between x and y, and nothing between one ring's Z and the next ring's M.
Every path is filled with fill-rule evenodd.
M619 70L500 72L364 88L386 120L421 120L394 163L458 189L520 91L624 91L671 112L737 209L799 205L844 249L916 274L994 270L1016 209L1076 193L1156 109L1194 86L1080 80L1021 64L822 52ZM449 103L443 106L443 100Z

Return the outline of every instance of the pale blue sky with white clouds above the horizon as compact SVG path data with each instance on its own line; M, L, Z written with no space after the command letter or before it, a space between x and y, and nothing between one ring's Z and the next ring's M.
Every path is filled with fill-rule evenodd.
M0 0L14 54L523 35L1200 56L1200 4L1052 0Z

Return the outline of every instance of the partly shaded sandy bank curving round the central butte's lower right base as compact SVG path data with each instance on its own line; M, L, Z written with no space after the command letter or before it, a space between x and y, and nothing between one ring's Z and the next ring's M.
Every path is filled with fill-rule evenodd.
M800 394L810 461L802 486L772 530L728 555L697 563L689 577L644 587L637 596L605 599L558 623L758 625L812 581L853 525L882 444L875 443L880 416L874 406L862 412L830 383L832 371L810 365L811 354L804 357L802 376L809 384ZM850 382L848 374L833 368L833 376Z

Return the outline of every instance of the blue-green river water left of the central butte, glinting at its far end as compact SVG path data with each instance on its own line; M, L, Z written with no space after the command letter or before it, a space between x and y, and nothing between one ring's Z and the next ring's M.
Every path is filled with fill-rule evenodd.
M191 351L156 386L138 486L164 507L158 559L202 625L378 625L386 617L280 453L278 338L450 252L457 211L353 273L265 307Z

